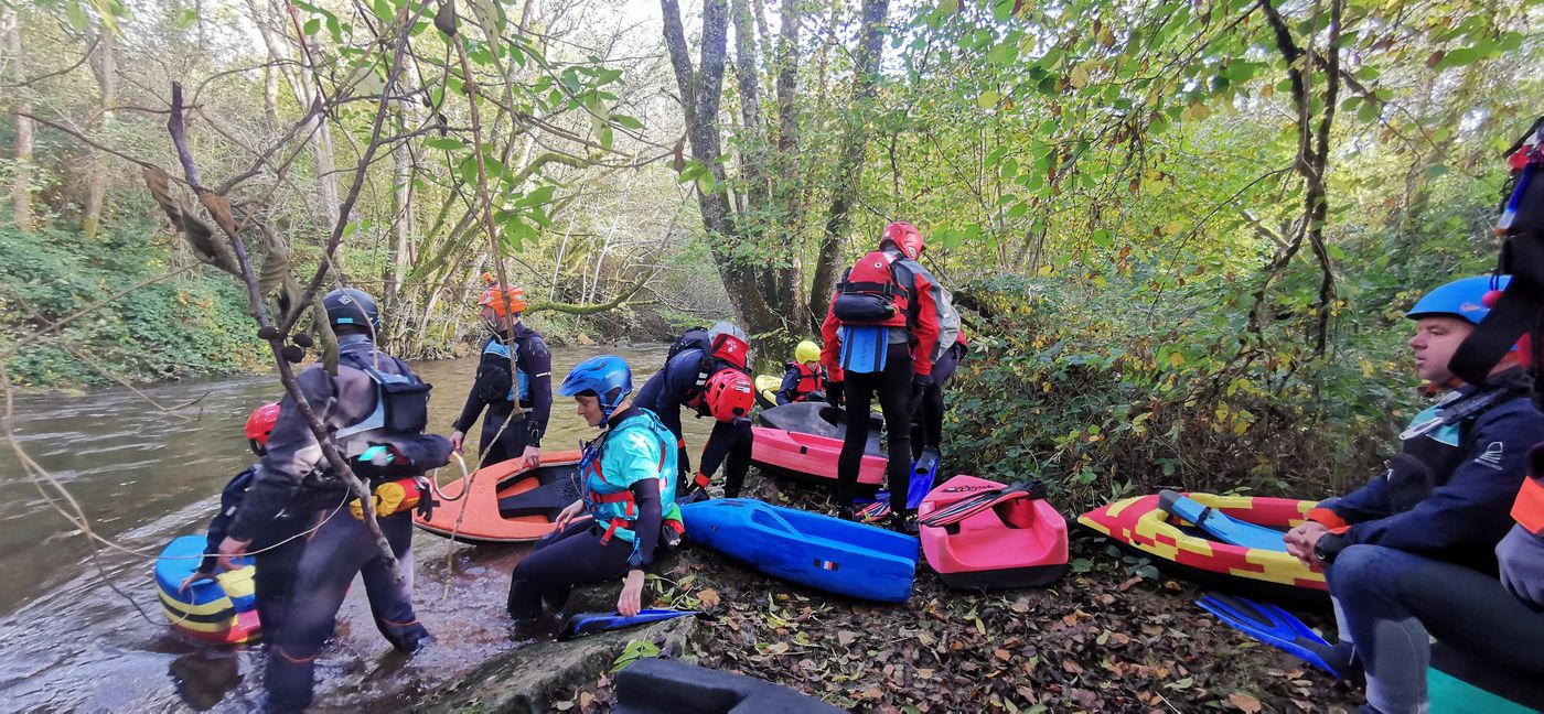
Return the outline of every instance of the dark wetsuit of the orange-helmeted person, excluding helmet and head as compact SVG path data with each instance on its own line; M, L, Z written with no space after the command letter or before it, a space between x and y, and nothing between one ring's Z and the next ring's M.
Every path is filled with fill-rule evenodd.
M553 355L547 350L547 342L523 324L514 325L513 342L514 375L510 373L510 341L493 336L483 342L477 379L466 393L460 418L452 424L457 432L468 433L483 407L488 407L477 441L479 453L483 453L482 466L519 458L528 446L540 447L547 419L553 413ZM516 401L528 412L523 419L505 427Z

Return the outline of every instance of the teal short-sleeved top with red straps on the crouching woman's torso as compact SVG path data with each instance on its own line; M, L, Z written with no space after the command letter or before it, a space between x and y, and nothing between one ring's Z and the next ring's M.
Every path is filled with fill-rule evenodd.
M633 527L639 512L631 486L641 478L659 480L659 507L664 521L670 527L681 523L681 506L675 503L675 435L653 412L647 409L638 412L590 443L579 461L585 510L594 517L596 524L607 529L601 538L602 544L618 537L638 547L638 534Z

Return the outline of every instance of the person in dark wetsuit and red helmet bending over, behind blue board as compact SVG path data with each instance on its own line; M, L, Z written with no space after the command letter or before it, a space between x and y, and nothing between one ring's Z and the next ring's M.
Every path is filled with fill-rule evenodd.
M724 495L736 498L740 487L750 470L750 418L733 416L733 404L720 409L718 423L713 433L703 446L703 460L698 463L696 477L687 483L692 463L686 455L686 438L681 435L681 407L696 410L698 416L713 415L713 404L709 401L707 382L724 370L733 370L749 378L746 369L749 359L749 344L746 333L729 322L718 322L707 330L704 344L686 347L670 358L664 369L650 376L638 390L635 404L659 415L659 421L670 429L676 438L676 467L679 481L676 492L686 495L690 489L706 489L720 464L724 466ZM726 396L738 396L738 387L723 392ZM755 395L750 395L752 402ZM746 406L749 413L749 406Z

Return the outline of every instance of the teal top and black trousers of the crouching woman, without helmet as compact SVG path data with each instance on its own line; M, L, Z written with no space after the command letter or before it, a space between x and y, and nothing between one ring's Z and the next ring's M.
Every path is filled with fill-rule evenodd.
M628 407L611 415L579 464L591 518L548 534L514 566L510 617L534 618L543 601L560 609L576 584L648 567L665 518L679 523L675 460L670 430L653 412Z

